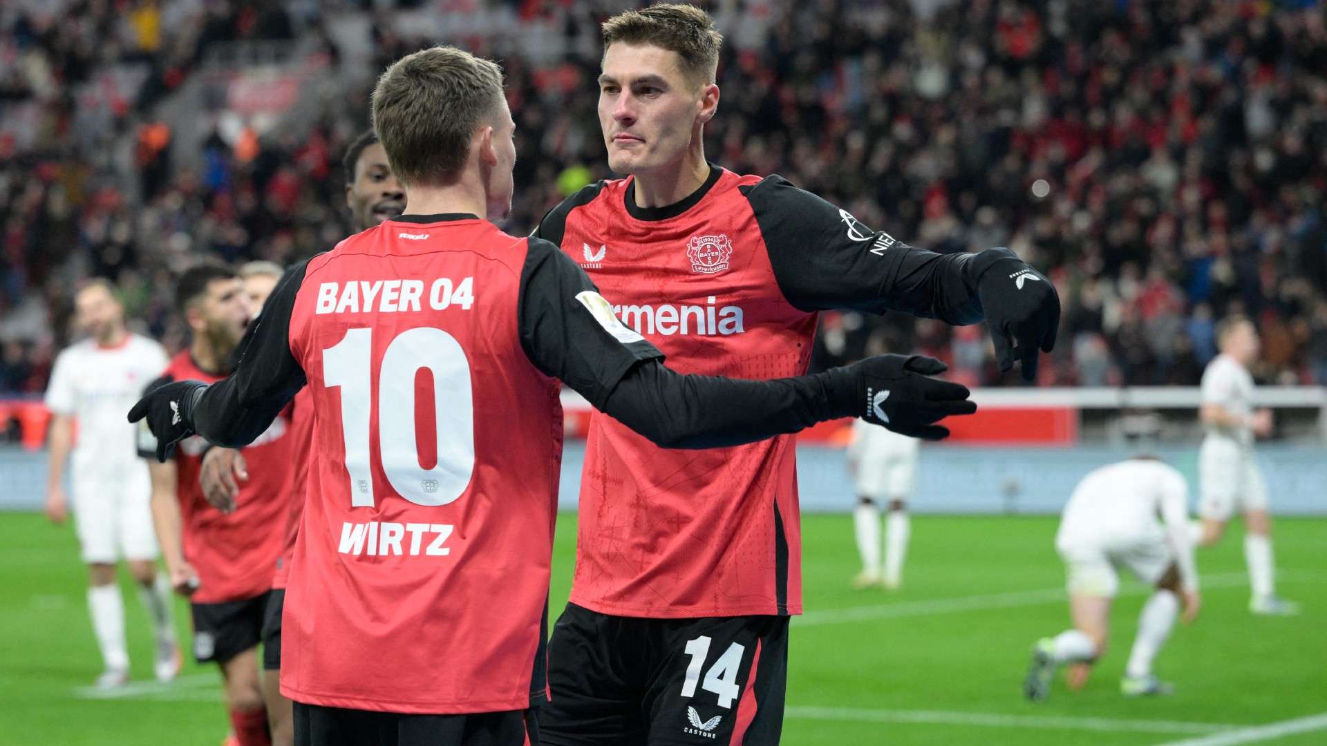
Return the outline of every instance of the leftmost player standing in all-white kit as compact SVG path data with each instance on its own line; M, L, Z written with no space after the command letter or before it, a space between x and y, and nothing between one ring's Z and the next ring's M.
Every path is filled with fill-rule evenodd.
M157 569L147 467L134 457L134 429L125 425L122 411L166 365L166 350L125 328L125 307L106 280L92 280L78 291L74 313L89 338L60 353L46 389L52 413L46 515L62 523L69 512L65 461L73 450L74 523L90 580L88 609L105 666L97 686L129 681L125 607L115 584L121 558L153 620L157 678L171 681L179 673L180 656L170 584Z

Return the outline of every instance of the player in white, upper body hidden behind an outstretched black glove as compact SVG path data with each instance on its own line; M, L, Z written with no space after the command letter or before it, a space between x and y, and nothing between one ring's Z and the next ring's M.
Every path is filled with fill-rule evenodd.
M861 573L853 579L856 588L884 584L890 591L902 584L904 556L912 526L908 498L917 485L917 438L876 427L863 419L852 425L848 443L848 470L857 490L857 507L852 512ZM885 564L880 565L880 507L888 502L885 518Z

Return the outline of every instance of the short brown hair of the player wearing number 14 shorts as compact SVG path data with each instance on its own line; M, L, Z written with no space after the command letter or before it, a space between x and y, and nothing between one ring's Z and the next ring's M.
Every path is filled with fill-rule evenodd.
M701 84L714 82L719 70L723 35L714 19L695 5L657 3L642 11L624 11L601 27L604 52L610 44L653 44L682 58L682 74Z

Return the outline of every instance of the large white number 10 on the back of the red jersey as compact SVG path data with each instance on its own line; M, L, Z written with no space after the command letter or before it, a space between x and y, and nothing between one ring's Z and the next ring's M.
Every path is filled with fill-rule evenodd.
M378 408L378 453L391 488L421 506L445 506L462 495L475 469L474 397L470 361L456 337L442 329L417 327L397 335L378 372L378 400L372 388L373 329L349 329L322 350L322 377L341 389L341 433L345 469L350 475L350 504L373 507L369 470L369 417ZM433 373L438 458L421 466L415 439L415 376Z

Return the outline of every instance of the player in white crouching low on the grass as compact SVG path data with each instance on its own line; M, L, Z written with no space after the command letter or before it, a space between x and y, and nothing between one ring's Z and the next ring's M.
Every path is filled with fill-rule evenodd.
M1156 588L1139 616L1120 692L1129 697L1174 692L1152 673L1152 661L1170 636L1181 601L1185 623L1198 615L1198 572L1186 503L1184 477L1151 457L1103 466L1079 482L1055 535L1055 548L1068 571L1074 628L1032 648L1023 686L1028 700L1046 698L1060 665L1076 666L1070 674L1071 686L1085 684L1088 666L1105 653L1119 567Z

